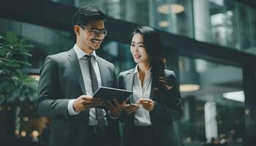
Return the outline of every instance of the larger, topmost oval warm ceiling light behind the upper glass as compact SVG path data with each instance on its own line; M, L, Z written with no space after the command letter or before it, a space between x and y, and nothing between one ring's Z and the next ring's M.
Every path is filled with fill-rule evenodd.
M157 11L162 14L178 14L184 11L184 7L181 4L162 4L157 7Z

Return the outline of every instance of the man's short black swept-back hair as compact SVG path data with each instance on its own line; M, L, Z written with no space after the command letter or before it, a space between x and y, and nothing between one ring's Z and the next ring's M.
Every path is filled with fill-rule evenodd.
M91 20L105 20L105 17L106 15L97 8L91 6L80 7L73 16L73 26L87 26Z

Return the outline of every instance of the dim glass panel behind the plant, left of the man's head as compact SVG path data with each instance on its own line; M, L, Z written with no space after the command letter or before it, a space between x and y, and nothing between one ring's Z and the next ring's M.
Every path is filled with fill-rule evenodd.
M74 37L67 31L59 31L44 26L37 26L30 23L23 23L15 20L0 18L0 33L13 31L19 37L28 37L34 48L30 49L32 54L28 58L32 64L31 68L39 69L47 55L69 50L74 45Z

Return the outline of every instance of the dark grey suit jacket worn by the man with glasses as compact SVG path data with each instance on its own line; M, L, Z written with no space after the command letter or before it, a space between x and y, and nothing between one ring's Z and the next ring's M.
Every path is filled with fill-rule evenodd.
M117 88L116 72L113 64L97 56L102 86ZM50 126L50 146L85 146L89 125L89 109L78 115L69 115L69 99L86 95L78 57L74 49L56 55L49 55L41 69L38 87L37 112L41 116L53 118ZM118 145L120 135L118 120L113 120L107 112L111 141Z

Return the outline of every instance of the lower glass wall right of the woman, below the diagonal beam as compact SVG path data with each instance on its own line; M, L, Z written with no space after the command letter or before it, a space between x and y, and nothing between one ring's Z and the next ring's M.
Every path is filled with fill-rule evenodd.
M181 120L184 145L203 145L213 139L219 144L242 145L245 123L241 68L180 57L179 72L184 102ZM184 85L199 85L199 88L186 91Z

